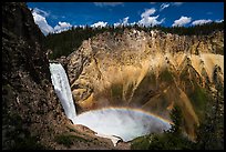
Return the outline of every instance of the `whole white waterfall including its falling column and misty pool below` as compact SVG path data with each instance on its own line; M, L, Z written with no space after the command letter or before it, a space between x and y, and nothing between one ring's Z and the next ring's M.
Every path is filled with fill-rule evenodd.
M168 122L133 109L109 108L76 115L71 88L63 67L59 63L50 63L50 72L54 90L66 116L74 124L90 128L96 132L97 136L111 139L114 145L120 138L127 142L137 136L152 132L160 133L171 128Z

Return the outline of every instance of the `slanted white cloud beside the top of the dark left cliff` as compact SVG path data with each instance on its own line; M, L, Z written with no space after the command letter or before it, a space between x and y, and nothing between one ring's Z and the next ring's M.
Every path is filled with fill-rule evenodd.
M38 11L35 10L32 11L32 16L33 16L35 24L39 26L40 30L42 31L44 36L53 32L53 28L50 24L48 24L45 17L39 14Z

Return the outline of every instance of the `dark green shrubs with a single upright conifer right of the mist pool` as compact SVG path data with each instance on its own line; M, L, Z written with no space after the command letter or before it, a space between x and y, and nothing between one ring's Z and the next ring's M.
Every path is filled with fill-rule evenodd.
M192 149L192 141L182 133L182 111L174 107L171 113L173 120L172 129L162 134L152 133L148 136L141 136L132 141L133 150L188 150Z

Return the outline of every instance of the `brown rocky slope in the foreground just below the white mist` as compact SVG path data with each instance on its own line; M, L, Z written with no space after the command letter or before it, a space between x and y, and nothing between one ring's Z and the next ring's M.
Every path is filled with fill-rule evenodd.
M130 150L131 143L119 141L113 145L107 138L96 136L96 133L81 124L68 124L69 132L58 136L56 150ZM64 142L62 139L66 139Z

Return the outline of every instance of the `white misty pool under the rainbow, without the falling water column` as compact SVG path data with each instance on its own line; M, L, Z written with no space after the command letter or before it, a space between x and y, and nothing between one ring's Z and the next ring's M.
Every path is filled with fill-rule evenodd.
M142 111L115 108L84 112L78 115L76 123L92 129L97 134L120 136L125 142L171 128L168 122Z

